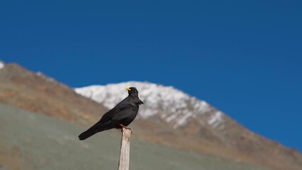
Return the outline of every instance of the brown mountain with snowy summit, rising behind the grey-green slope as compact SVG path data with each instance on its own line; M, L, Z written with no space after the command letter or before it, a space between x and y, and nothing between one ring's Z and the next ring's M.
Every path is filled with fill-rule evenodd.
M296 149L247 130L205 101L172 86L130 81L74 90L18 64L0 68L0 103L87 127L127 96L128 86L136 86L145 102L130 125L135 138L267 169L301 170L302 155Z

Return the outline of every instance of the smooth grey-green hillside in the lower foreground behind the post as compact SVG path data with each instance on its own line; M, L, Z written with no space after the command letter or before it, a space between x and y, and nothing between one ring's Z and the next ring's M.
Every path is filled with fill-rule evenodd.
M117 169L118 130L79 141L87 127L0 104L0 169ZM116 132L112 132L116 131ZM130 169L259 168L131 139Z

